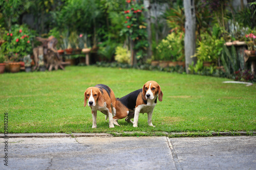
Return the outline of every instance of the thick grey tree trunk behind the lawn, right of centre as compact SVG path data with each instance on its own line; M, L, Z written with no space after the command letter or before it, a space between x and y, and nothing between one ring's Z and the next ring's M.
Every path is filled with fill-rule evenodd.
M197 58L193 56L196 52L196 11L195 0L183 1L185 11L185 64L186 72L189 73L188 66L194 61L197 62Z

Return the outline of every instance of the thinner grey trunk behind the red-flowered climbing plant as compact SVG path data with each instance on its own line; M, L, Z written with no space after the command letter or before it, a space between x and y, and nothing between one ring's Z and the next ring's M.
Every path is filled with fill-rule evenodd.
M144 7L147 9L147 11L144 12L146 23L147 23L147 41L148 41L148 48L147 48L147 58L152 57L152 31L151 31L151 15L150 15L150 0L144 0Z

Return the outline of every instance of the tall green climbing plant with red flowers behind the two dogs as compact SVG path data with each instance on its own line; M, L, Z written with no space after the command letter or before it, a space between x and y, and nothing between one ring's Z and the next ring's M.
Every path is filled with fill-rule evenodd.
M135 0L127 0L126 3L127 8L123 12L126 20L121 35L126 34L133 40L136 57L142 59L148 47L145 17L142 14L144 7L136 3Z

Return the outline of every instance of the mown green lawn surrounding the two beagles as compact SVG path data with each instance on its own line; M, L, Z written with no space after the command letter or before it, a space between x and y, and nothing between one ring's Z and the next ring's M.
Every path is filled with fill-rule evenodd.
M163 101L154 109L153 125L140 114L138 128L124 119L110 129L98 111L97 129L92 129L90 107L83 107L83 92L90 86L109 85L116 97L157 81ZM65 71L19 72L0 75L0 132L8 113L8 133L136 131L134 135L163 132L226 132L256 130L256 86L223 84L227 79L171 74L137 69L69 66ZM127 134L126 134L127 135Z

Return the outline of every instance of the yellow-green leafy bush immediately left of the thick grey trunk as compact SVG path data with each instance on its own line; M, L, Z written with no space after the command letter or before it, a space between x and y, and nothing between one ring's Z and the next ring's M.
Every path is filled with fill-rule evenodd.
M182 61L184 60L184 33L172 32L168 34L156 47L156 60Z

